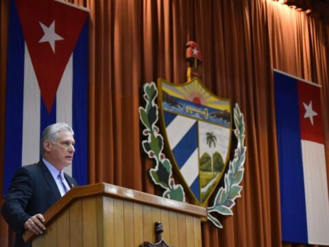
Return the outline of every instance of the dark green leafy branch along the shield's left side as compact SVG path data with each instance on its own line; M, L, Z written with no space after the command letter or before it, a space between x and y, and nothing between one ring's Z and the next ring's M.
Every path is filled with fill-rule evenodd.
M139 116L145 129L143 135L147 140L142 141L143 150L149 158L156 161L154 168L149 169L149 176L154 184L159 185L164 189L162 197L185 202L185 193L182 185L175 184L172 175L172 165L168 158L162 153L163 137L159 133L159 128L156 126L158 122L158 106L155 99L158 96L158 89L154 82L149 82L143 86L146 105L145 108L139 107Z

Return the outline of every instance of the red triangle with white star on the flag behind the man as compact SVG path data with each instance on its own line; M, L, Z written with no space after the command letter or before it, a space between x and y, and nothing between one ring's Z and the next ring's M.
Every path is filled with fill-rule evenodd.
M40 93L50 112L88 12L54 0L15 2Z

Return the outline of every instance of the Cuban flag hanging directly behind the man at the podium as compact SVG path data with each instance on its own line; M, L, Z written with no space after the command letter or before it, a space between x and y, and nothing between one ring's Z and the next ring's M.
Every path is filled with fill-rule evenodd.
M56 0L12 0L5 105L4 193L14 171L40 159L40 134L75 132L66 172L88 183L88 11Z

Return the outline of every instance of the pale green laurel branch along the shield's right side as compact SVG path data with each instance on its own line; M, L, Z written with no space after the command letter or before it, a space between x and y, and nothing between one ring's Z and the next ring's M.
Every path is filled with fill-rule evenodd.
M243 114L240 111L239 105L234 107L234 124L236 129L234 134L238 140L236 149L234 150L234 158L230 161L228 172L224 177L224 186L219 188L215 196L214 204L208 207L208 220L215 224L218 228L223 228L219 220L210 213L217 212L221 215L233 215L232 207L235 205L236 198L241 197L242 186L239 184L242 181L245 172L245 124L243 121Z

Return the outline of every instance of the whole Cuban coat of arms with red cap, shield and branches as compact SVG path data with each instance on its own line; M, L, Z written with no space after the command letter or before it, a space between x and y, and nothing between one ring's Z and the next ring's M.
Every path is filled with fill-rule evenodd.
M212 213L232 215L235 199L241 196L239 184L246 150L243 115L237 104L232 113L230 99L217 97L206 89L197 73L202 62L199 47L193 41L186 47L188 82L173 84L159 78L157 86L154 82L144 85L146 104L139 112L147 139L142 145L149 158L155 160L149 175L164 189L162 196L185 201L185 192L188 193L193 204L207 207L208 220L221 228ZM232 126L237 146L230 161ZM175 183L173 171L183 185ZM218 188L222 178L223 186ZM214 192L215 199L210 204L208 200Z

